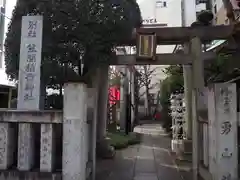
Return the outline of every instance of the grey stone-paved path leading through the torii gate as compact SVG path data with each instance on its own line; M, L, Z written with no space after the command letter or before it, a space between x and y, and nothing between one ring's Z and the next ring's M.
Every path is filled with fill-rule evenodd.
M171 156L170 138L159 124L144 124L134 131L143 134L141 144L118 151L114 160L98 161L96 180L188 180Z

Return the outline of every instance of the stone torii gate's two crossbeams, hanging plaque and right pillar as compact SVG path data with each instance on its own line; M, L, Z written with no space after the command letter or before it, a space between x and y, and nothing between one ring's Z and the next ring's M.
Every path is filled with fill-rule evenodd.
M191 128L192 135L192 163L193 179L199 177L200 159L202 159L203 145L200 134L203 133L199 123L201 116L207 113L204 102L204 63L216 59L213 52L203 52L205 42L218 39L230 39L238 30L239 25L209 26L209 27L166 27L140 28L131 41L123 43L132 46L137 42L136 55L119 55L112 65L190 65L192 77L192 119L187 119L187 128ZM157 45L182 44L188 50L182 54L156 54ZM204 117L205 118L205 117Z

